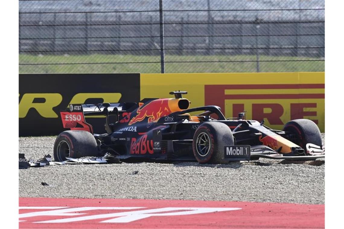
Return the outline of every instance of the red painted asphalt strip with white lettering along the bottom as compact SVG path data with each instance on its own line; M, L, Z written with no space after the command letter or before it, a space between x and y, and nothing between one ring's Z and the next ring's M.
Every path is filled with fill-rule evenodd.
M20 198L19 228L324 228L323 204Z

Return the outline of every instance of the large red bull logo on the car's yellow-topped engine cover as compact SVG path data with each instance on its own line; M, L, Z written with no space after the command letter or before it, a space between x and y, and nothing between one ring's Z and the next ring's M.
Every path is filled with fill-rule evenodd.
M169 99L157 99L139 107L136 113L137 115L130 120L128 125L141 122L146 117L148 117L148 123L157 122L160 117L169 115L172 112L169 107Z

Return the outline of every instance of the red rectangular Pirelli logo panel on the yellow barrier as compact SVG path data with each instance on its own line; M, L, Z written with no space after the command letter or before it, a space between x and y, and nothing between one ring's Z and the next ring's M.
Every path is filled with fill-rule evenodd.
M226 117L247 111L246 119L265 120L281 128L290 120L307 118L323 126L325 84L205 85L205 105L221 107Z

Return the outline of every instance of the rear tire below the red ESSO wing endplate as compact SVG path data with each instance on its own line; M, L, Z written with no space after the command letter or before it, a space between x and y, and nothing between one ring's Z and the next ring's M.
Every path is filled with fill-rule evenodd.
M84 130L67 130L59 134L54 144L54 160L65 161L66 157L81 158L97 156L97 141Z

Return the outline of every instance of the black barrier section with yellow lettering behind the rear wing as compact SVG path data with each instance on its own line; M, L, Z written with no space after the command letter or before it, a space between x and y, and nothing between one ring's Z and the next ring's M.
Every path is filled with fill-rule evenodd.
M70 103L140 101L140 74L19 74L19 136L58 135ZM86 117L94 133L105 118Z

